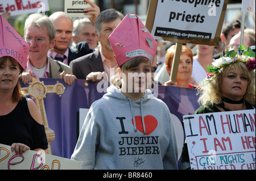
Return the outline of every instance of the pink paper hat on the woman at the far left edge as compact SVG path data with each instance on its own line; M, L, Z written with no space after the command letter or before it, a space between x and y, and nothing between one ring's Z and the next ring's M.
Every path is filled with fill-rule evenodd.
M13 57L23 69L26 69L30 46L0 15L0 58Z

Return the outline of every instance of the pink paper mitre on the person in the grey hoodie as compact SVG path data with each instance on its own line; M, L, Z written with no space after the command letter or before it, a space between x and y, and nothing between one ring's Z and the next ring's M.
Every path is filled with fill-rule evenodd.
M127 14L109 41L119 66L134 57L146 57L151 64L154 62L158 44L137 15Z

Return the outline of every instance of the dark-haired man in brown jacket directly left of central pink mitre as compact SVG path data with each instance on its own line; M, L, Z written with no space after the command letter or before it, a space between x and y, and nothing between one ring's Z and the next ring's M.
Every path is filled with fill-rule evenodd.
M93 53L73 60L70 64L74 75L76 75L78 79L97 82L101 81L105 74L108 75L109 79L110 69L113 68L115 72L117 71L117 61L114 58L114 52L108 37L122 19L123 14L114 9L102 11L100 15L98 15L95 29L100 48Z

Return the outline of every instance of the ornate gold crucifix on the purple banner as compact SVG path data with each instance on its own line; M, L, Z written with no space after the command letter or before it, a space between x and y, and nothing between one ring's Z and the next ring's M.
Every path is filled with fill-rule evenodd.
M22 88L22 91L24 94L30 95L32 99L35 99L36 106L38 106L38 110L42 116L44 129L46 130L48 153L52 154L51 142L55 139L55 133L51 128L49 128L43 99L46 98L46 94L49 93L56 93L61 97L66 88L62 83L59 83L59 81L57 81L55 85L46 86L39 78L32 78L32 82L29 84L30 86Z

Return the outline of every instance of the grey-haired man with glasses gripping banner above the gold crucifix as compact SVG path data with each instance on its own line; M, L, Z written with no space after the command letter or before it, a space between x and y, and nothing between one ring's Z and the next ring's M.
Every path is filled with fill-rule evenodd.
M30 45L26 72L22 73L22 82L26 85L32 77L63 78L67 85L73 85L76 79L68 65L47 56L55 45L55 28L47 16L32 14L28 16L24 27L25 41Z

